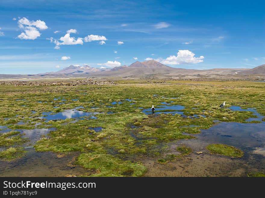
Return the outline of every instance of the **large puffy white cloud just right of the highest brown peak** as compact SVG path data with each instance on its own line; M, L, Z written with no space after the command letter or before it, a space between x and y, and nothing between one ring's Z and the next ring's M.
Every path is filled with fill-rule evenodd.
M179 65L179 64L188 64L188 63L198 63L203 62L204 56L194 57L195 54L189 50L179 50L177 56L169 56L166 59L163 59L161 63L168 65Z

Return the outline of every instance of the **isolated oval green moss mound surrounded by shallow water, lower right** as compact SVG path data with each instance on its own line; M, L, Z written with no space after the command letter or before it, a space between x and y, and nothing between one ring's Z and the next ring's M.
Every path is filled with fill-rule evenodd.
M225 155L229 157L240 158L244 155L244 152L234 146L229 146L225 144L211 144L206 147L211 154Z

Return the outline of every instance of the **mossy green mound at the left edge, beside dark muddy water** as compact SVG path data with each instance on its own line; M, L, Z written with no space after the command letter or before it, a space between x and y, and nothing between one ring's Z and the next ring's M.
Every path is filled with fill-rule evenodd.
M0 152L0 158L5 161L11 161L25 156L26 153L27 151L23 147L10 147Z

